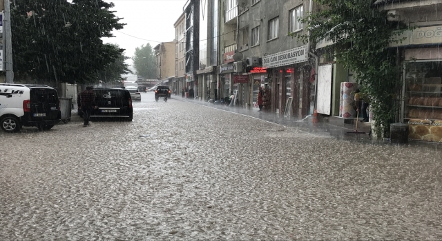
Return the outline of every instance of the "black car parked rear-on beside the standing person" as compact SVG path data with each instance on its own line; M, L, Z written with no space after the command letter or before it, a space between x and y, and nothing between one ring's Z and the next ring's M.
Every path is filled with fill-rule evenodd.
M92 91L95 93L97 109L93 109L90 114L91 118L120 117L132 121L132 98L128 90L99 87ZM83 117L81 109L79 109L78 114Z

